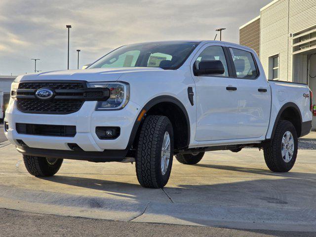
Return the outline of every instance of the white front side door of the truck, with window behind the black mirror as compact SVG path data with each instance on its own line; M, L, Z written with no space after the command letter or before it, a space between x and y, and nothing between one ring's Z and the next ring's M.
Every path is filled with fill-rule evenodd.
M194 75L201 61L220 60L222 75ZM230 60L224 44L207 43L191 63L197 93L196 141L230 140L238 138L238 80L230 78Z

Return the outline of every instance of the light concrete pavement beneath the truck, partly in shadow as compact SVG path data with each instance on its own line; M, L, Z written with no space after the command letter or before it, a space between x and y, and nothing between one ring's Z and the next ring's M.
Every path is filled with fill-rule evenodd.
M12 145L0 148L0 207L127 222L316 231L316 151L300 150L289 173L272 173L263 153L206 153L175 160L168 185L144 189L135 165L64 160L54 177L29 175Z

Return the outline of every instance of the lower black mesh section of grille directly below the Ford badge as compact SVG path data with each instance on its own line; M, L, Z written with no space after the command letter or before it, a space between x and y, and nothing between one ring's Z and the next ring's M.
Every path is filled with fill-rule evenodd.
M30 100L19 99L17 107L24 113L34 114L71 114L79 111L84 101L81 100Z

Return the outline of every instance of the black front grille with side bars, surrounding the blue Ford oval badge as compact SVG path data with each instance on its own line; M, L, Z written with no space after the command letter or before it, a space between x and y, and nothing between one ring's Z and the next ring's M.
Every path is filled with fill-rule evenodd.
M39 89L50 89L50 99L39 98ZM23 113L71 114L79 111L84 101L105 101L110 96L108 88L87 88L86 81L23 81L11 96L17 99L17 108Z

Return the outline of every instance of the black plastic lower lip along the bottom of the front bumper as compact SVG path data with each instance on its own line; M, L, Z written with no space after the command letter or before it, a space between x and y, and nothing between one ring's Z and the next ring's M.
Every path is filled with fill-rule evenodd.
M77 159L87 160L92 162L110 162L122 161L127 154L127 150L105 150L104 152L85 152L85 151L66 151L53 150L17 146L16 150L28 156L62 158L62 159Z

